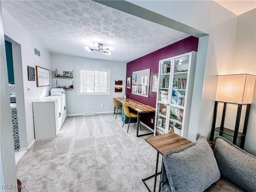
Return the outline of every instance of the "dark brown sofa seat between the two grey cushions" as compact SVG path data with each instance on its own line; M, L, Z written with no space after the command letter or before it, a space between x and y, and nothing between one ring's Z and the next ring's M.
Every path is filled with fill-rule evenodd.
M208 189L206 189L204 192L244 192L242 188L238 187L234 183L226 180L223 177L220 177L220 179L212 184Z

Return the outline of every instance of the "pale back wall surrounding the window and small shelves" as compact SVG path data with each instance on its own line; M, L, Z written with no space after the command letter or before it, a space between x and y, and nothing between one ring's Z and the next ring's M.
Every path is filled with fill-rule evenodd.
M98 53L102 54L102 53ZM102 67L111 69L110 80L110 96L77 96L76 95L76 66L91 66ZM69 86L74 81L74 89L66 89L66 103L67 114L83 114L84 112L112 112L114 111L113 97L123 97L125 93L126 82L126 63L111 62L105 60L95 60L89 58L80 58L73 56L65 56L59 54L52 54L52 72L58 70L58 74L62 74L63 71L72 71L73 78L53 78L54 86L56 86L56 80L58 85ZM115 80L122 80L122 92L114 92ZM104 104L104 108L102 108Z

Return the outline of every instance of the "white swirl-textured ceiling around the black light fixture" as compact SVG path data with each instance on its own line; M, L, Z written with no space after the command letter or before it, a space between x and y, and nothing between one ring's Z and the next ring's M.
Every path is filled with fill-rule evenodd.
M1 2L52 53L130 62L189 36L89 0ZM84 49L94 42L112 55Z

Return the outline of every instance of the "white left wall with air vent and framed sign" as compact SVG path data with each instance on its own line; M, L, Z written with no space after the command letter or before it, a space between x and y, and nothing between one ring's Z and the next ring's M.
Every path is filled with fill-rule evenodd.
M27 66L41 66L46 69L52 68L51 54L32 34L30 34L20 23L18 23L6 10L3 11L4 34L15 41L14 53L14 79L16 85L17 116L23 123L19 124L21 148L27 148L34 141L34 121L32 101L48 96L51 86L37 87L36 81L28 81ZM41 57L34 54L34 47L40 50ZM17 51L18 52L18 51ZM21 57L21 58L20 58ZM22 65L22 66L20 66ZM51 74L52 78L52 74ZM51 85L52 85L52 79ZM28 92L28 86L31 88ZM22 115L24 118L22 118Z

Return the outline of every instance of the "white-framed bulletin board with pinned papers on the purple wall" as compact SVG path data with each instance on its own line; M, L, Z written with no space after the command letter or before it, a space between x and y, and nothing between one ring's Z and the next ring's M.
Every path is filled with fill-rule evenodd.
M132 72L132 94L148 97L150 69Z

